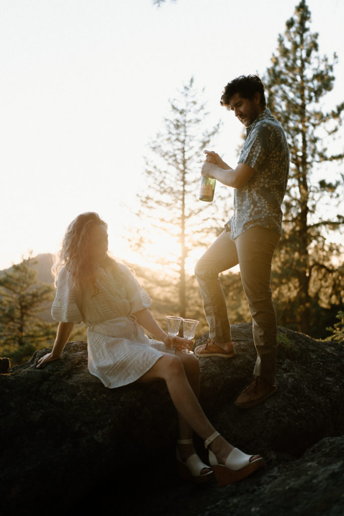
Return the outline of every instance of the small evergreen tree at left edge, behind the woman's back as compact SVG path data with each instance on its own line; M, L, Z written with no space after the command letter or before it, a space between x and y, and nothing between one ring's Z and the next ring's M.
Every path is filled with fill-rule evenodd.
M38 282L36 263L23 259L0 277L0 354L12 362L27 360L55 333L55 325L39 316L42 305L52 301L54 288Z

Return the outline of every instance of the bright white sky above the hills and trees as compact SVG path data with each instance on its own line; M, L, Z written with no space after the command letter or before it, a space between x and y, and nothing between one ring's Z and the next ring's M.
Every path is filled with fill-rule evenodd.
M0 269L29 250L56 252L85 211L108 222L114 254L133 260L126 240L143 156L169 99L194 76L210 122L224 122L216 150L235 164L242 129L221 91L266 71L298 3L0 0ZM339 56L332 108L343 100L344 2L308 7L320 55Z

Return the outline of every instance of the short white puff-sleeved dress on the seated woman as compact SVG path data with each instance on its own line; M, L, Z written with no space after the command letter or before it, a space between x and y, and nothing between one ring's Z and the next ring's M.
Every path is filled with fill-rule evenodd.
M117 265L116 272L97 269L96 295L91 288L76 292L63 267L52 307L55 320L85 323L89 371L109 388L134 382L166 352L163 343L144 334L133 315L150 308L149 295L126 265Z

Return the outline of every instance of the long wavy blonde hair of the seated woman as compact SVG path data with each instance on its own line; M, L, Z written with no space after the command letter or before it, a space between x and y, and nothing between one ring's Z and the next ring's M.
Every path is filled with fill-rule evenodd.
M71 274L76 289L80 289L87 283L93 285L96 291L96 265L90 260L88 254L89 233L95 225L103 225L107 229L107 223L95 212L81 213L69 224L62 248L56 254L52 267L55 286L59 272L65 266ZM106 260L109 265L116 267L116 261L109 255Z

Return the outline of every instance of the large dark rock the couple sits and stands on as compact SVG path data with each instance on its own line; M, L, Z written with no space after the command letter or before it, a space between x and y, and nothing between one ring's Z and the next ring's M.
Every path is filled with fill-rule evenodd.
M201 404L214 426L264 470L219 488L179 481L176 416L166 385L106 389L87 344L37 369L37 351L0 374L0 514L283 516L344 514L344 348L279 328L275 396L242 411L252 377L250 324L233 325L237 356L201 361ZM202 344L207 335L199 338ZM195 438L206 460L203 444Z

